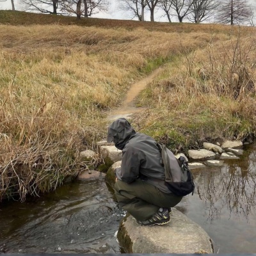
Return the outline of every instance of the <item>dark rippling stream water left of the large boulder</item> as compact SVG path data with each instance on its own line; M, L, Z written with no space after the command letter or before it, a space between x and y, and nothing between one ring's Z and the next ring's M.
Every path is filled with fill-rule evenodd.
M120 253L114 234L124 214L104 180L65 184L1 210L1 252Z

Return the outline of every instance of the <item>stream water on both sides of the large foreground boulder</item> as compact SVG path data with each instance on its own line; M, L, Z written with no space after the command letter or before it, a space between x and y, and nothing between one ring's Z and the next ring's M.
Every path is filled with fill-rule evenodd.
M205 229L215 253L255 253L255 145L239 160L193 173L195 194L177 209ZM36 200L0 207L0 253L123 252L115 233L124 212L104 180L76 181Z

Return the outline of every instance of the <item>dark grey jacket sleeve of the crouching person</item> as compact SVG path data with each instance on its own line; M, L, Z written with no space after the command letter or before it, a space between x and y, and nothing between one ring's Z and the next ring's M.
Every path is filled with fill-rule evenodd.
M136 148L124 148L121 168L116 170L116 177L127 183L136 180L140 172L140 156L141 152Z

